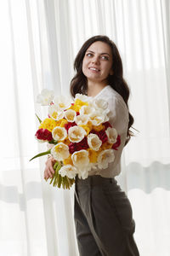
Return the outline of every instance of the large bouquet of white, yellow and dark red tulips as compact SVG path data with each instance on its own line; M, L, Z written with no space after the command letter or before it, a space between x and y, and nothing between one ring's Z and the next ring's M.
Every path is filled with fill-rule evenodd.
M108 103L103 99L77 94L74 101L42 90L37 102L48 106L35 137L48 143L48 150L32 159L50 154L56 160L50 183L70 189L75 177L87 178L92 169L105 169L115 159L121 138L109 122ZM32 160L31 159L31 160Z

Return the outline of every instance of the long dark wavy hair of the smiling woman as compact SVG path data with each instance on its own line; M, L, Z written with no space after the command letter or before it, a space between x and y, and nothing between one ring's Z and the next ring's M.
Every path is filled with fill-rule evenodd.
M106 36L94 36L93 38L89 38L83 45L82 48L79 50L76 59L74 61L74 70L76 71L76 75L74 76L73 79L71 79L71 96L75 96L77 93L81 93L84 95L87 95L88 93L88 79L85 77L85 75L82 73L82 61L84 58L84 55L88 49L88 47L93 44L96 41L101 41L106 44L109 44L111 47L112 51L112 58L113 58L113 64L112 64L112 69L113 69L113 75L109 75L107 80L108 84L111 85L111 87L118 92L124 102L127 105L128 109L128 97L130 94L130 90L127 86L127 83L125 79L123 79L123 69L122 69L122 59L119 54L118 49L116 48L116 44L114 44L113 41L111 41L110 38ZM127 145L128 141L132 136L134 136L133 131L130 131L130 127L133 125L134 119L131 113L128 112L129 116L129 122L128 122L128 129L127 129L127 138L125 145ZM132 126L133 128L133 126ZM134 128L133 128L134 129ZM136 129L134 129L136 130ZM138 130L136 130L138 131ZM125 146L124 145L124 146Z

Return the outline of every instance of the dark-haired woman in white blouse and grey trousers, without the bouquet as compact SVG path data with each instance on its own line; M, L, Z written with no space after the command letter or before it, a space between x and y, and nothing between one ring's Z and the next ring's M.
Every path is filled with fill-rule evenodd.
M133 239L135 223L130 201L116 182L121 154L133 132L128 111L129 89L122 77L122 60L116 44L106 36L89 38L74 62L71 95L105 99L110 122L121 137L115 160L108 168L92 170L86 179L76 177L75 226L80 256L139 256ZM44 177L52 177L54 159L46 162Z

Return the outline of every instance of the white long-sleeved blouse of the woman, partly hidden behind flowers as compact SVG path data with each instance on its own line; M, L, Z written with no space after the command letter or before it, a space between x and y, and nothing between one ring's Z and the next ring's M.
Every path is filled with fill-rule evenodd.
M92 171L90 171L88 175L100 175L101 177L115 177L121 172L121 154L127 137L127 128L129 120L127 105L124 102L122 96L119 93L117 93L116 90L112 89L111 85L106 85L93 98L102 98L108 102L108 108L110 110L109 122L120 135L121 144L117 148L117 150L114 149L114 162L110 163L106 169L92 169Z

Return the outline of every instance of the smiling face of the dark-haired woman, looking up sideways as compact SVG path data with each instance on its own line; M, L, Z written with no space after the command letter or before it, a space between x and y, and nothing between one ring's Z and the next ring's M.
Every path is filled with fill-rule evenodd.
M82 73L88 81L107 84L109 74L113 74L112 61L110 45L101 41L94 42L85 52Z

